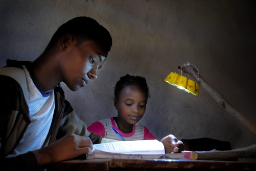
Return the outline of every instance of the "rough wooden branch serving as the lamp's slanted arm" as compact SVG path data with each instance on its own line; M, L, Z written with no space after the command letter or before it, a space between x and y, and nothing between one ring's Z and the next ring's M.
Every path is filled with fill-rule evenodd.
M179 67L182 69L183 72L186 72L190 74L190 76L200 84L201 87L205 89L205 91L214 99L217 101L217 103L225 109L229 114L236 117L239 121L241 121L243 124L245 124L250 131L252 131L254 134L256 134L256 126L250 122L244 115L242 115L239 111L237 111L219 92L217 92L212 86L210 86L209 83L207 83L196 71L195 67L187 62L184 63L182 67Z

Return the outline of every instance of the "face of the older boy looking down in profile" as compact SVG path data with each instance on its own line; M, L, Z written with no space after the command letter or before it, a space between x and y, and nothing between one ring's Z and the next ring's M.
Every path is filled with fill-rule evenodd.
M63 53L63 82L72 91L77 91L80 87L86 86L91 79L96 79L97 70L102 67L107 57L107 52L93 40L83 41L80 45L73 41Z

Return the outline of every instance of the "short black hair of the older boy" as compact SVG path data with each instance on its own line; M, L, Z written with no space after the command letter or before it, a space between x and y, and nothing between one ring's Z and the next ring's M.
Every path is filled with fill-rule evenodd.
M84 40L95 40L106 52L109 52L112 46L112 38L106 28L90 17L76 17L57 29L46 51L52 49L65 34L73 35L78 45Z

